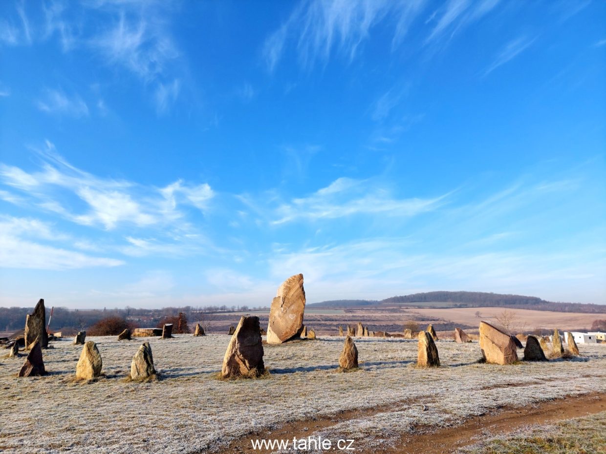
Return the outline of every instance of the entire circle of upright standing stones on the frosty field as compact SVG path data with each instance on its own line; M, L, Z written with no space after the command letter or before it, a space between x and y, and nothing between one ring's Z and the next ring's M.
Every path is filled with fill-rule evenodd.
M258 378L267 374L263 362L262 335L267 335L267 344L283 344L293 340L316 340L316 332L312 327L303 324L305 311L305 289L303 275L289 277L278 288L276 297L271 301L271 309L267 332L261 328L259 317L242 315L238 326L231 326L228 334L230 342L225 351L220 378ZM25 317L24 346L28 352L27 358L18 372L18 377L33 377L45 375L47 370L42 359L42 350L48 348L48 334L45 329L44 300L36 304L32 314ZM133 332L125 329L118 335L118 340L132 340L132 337L159 336L162 339L173 338L172 324L164 324L162 329L138 328ZM204 328L196 323L195 337L205 336ZM339 326L339 336L345 337L341 355L338 358L338 371L348 372L358 370L358 349L354 337L401 337L412 339L411 329L404 329L404 334L390 335L385 331L368 331L368 326L358 322L357 326L347 326L347 332ZM440 358L436 342L438 335L433 325L428 325L426 331L416 336L418 339L417 367L439 367ZM579 349L570 332L565 333L568 349L565 351L559 331L554 330L553 337L536 337L528 335L526 345L513 335L509 335L486 321L479 324L479 347L482 353L481 362L488 364L513 364L519 361L518 349L524 349L524 361L548 361L563 355L580 356ZM456 343L470 343L471 337L462 329L454 329ZM548 342L551 341L551 351ZM94 380L101 377L102 358L95 342L86 341L86 331L76 334L74 345L82 345L82 352L76 364L76 380ZM548 355L545 354L548 352ZM10 346L9 357L19 357L19 343L15 341ZM153 355L149 342L139 346L133 355L128 380L148 381L158 375L153 363Z

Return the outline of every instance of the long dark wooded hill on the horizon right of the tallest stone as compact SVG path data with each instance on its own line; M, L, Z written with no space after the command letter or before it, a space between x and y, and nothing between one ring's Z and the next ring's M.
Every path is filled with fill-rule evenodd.
M606 312L602 304L560 303L545 301L537 297L523 295L505 295L487 292L424 292L384 300L331 300L316 303L316 307L352 308L359 306L375 306L386 303L423 304L423 303L452 303L453 308L482 308L496 306L513 309L534 309L535 311L555 312L585 312L598 314Z

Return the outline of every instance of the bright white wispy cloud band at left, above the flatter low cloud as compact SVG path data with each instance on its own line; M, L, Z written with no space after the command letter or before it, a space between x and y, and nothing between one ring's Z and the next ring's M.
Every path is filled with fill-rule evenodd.
M181 207L194 206L204 211L215 195L207 183L189 185L177 180L165 188L144 187L128 180L96 177L65 161L55 146L46 142L41 150L41 169L27 172L0 163L0 182L21 191L18 197L7 192L5 200L20 200L71 222L112 230L121 225L141 228L167 226L184 217ZM77 210L73 197L84 202Z

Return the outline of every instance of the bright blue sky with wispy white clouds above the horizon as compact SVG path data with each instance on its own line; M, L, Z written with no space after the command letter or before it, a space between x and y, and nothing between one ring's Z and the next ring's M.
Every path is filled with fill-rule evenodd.
M606 303L606 3L0 3L0 305Z

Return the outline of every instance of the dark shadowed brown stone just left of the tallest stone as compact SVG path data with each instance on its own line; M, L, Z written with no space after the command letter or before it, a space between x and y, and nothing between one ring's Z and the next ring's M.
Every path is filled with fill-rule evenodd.
M242 315L225 351L221 375L259 377L265 372L259 317Z

